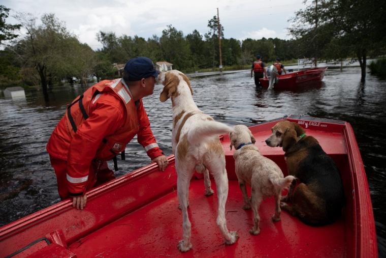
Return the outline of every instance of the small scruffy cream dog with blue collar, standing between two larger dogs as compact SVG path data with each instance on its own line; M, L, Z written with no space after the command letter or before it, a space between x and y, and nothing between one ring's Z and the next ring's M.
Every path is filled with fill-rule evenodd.
M275 215L273 221L280 221L280 198L281 190L288 188L295 179L293 176L283 177L279 166L260 154L259 149L254 146L256 140L251 131L245 125L236 125L234 132L229 133L232 146L236 148L233 154L235 158L236 175L239 186L243 193L244 206L247 210L252 207L254 213L254 226L249 231L252 235L260 234L259 206L265 197L275 197ZM245 184L251 187L251 197L248 198Z

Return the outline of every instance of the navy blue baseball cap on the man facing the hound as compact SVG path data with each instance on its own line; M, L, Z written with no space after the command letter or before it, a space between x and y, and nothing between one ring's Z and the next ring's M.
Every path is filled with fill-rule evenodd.
M144 56L137 56L129 60L124 66L124 71L128 77L125 79L136 81L150 76L158 77L158 70L155 70L153 62Z

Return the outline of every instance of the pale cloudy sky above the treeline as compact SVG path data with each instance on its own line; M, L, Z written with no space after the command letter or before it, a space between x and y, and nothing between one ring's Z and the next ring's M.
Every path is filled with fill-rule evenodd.
M162 36L167 25L172 25L185 36L194 30L204 35L217 8L227 39L289 39L288 19L306 7L303 0L2 0L0 5L11 9L6 20L10 24L17 23L11 17L16 12L39 18L54 13L68 31L94 50L102 48L95 36L99 31L147 40Z

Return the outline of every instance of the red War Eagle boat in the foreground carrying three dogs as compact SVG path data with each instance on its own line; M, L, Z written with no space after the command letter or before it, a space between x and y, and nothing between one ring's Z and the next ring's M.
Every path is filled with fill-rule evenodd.
M217 195L204 195L204 180L197 174L189 190L193 247L185 253L177 249L182 239L182 215L172 155L164 172L153 163L88 191L84 210L76 210L65 200L0 227L0 257L377 257L370 192L351 125L288 116L249 127L255 146L280 166L284 176L284 152L265 145L271 128L281 120L302 126L339 167L346 206L335 223L312 227L284 211L281 221L273 222L274 200L267 198L260 206L261 233L249 234L253 211L242 209L234 149L230 150L228 135L223 135L220 140L229 178L226 219L229 230L240 236L235 244L223 243L216 225Z

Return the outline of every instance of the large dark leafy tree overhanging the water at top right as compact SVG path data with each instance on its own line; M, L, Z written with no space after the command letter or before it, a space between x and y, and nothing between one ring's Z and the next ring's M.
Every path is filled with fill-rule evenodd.
M369 52L385 52L384 13L380 0L314 0L296 13L289 31L315 63L318 58L358 60L365 79Z

